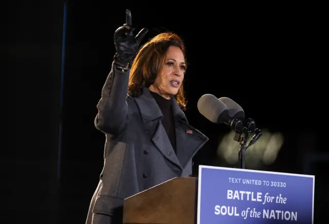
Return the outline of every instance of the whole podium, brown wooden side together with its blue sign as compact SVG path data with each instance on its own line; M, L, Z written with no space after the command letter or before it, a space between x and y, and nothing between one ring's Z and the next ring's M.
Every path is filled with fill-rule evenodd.
M314 217L312 175L199 166L123 201L123 224L283 224Z

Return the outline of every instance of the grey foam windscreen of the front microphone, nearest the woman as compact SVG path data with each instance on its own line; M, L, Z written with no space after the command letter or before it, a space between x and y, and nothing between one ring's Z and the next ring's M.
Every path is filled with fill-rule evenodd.
M218 100L214 95L205 94L197 102L199 113L213 123L218 123L218 117L227 110L224 103Z

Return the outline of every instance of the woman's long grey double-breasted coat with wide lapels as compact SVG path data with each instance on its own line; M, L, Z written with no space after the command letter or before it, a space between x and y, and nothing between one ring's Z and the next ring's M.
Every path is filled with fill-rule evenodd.
M97 105L95 126L106 136L104 166L90 202L87 224L122 223L123 200L170 180L192 174L192 157L208 138L189 125L172 98L177 154L162 113L148 88L127 95L129 70L112 64ZM191 132L192 131L192 132Z

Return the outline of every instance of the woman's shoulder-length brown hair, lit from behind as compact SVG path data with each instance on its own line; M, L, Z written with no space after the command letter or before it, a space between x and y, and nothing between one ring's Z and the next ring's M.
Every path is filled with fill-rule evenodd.
M145 43L138 51L130 70L128 94L138 97L142 88L149 88L157 78L166 60L166 53L170 46L179 47L185 54L185 45L180 36L174 33L160 33ZM186 63L187 64L187 63ZM183 85L174 96L181 109L186 108Z

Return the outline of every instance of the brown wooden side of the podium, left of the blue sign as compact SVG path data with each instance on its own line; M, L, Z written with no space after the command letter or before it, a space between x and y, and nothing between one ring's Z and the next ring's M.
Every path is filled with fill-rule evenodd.
M123 201L124 224L195 224L197 178L175 177Z

